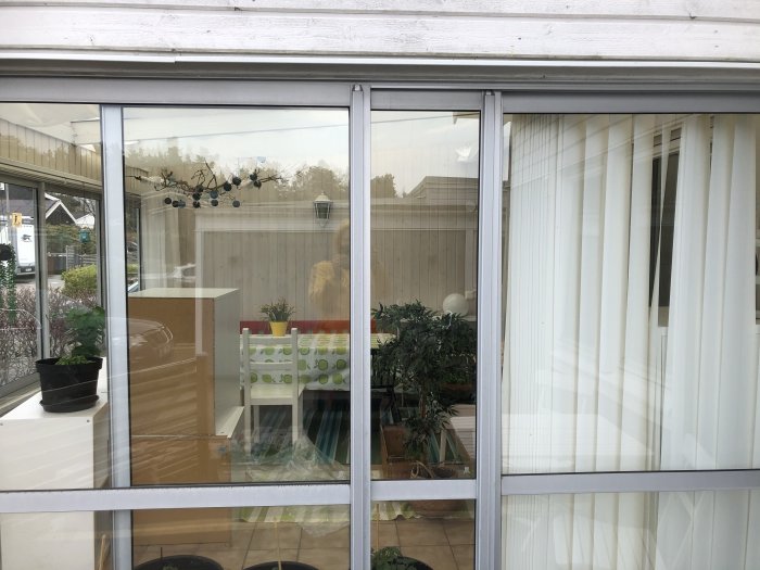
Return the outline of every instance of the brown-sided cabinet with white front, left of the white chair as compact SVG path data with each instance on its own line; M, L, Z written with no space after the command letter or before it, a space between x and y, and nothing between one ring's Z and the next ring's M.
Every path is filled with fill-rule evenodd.
M240 293L147 289L129 295L134 325L157 322L172 352L130 352L131 480L135 485L229 483L242 441ZM232 510L138 510L135 544L230 542Z

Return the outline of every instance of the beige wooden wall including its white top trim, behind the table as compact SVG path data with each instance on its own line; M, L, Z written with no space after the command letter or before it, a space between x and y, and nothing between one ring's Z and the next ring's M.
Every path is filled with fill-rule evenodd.
M243 212L163 210L177 216L177 232L169 236L143 226L148 231L143 238L177 248L178 263L145 256L144 270L170 276L175 265L195 264L194 287L240 290L241 320L261 320L258 307L280 296L296 307L294 319L347 319L347 289L339 293L338 306L344 311L331 314L320 312L308 294L314 266L333 259L335 231L343 217L319 228L313 227L311 217L282 210L284 214L256 213L252 206ZM372 306L419 300L440 311L449 293L474 290L477 218L472 208L385 205L373 212ZM170 277L164 284L193 287Z

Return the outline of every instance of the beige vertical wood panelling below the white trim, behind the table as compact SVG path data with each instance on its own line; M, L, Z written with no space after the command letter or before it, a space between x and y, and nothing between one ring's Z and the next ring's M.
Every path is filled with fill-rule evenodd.
M187 235L186 235L187 236ZM464 229L377 230L372 232L372 306L420 300L441 311L449 293L473 289L468 266L477 249ZM321 314L309 299L315 264L333 255L330 232L203 232L197 267L198 287L240 289L241 320L259 320L263 303L284 296L296 307L294 318L349 318L349 292L341 291L338 315Z

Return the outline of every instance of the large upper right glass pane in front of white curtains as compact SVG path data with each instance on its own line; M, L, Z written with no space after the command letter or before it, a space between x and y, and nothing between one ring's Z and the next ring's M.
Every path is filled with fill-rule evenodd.
M758 117L505 123L504 472L757 467Z

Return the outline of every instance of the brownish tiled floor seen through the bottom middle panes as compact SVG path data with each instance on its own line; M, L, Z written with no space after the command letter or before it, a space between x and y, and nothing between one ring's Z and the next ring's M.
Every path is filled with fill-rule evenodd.
M472 570L474 524L472 520L441 518L398 518L372 522L372 546L398 546L402 554L428 563L434 570ZM205 556L225 570L241 570L259 562L292 560L319 570L349 569L350 530L343 527L327 534L293 522L236 521L230 544L186 544L137 546L135 566L177 554Z

